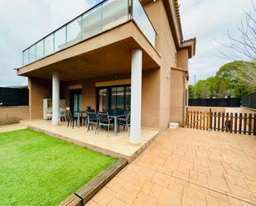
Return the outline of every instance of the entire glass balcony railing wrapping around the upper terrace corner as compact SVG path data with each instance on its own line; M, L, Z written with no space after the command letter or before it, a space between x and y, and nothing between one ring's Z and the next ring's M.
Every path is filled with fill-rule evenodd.
M139 0L104 0L22 51L23 65L132 20L155 46L157 33Z

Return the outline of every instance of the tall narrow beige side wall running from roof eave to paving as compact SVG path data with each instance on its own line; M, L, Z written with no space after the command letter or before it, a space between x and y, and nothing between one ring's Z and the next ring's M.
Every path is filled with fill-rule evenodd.
M145 7L147 15L157 31L157 51L161 55L159 74L159 128L168 127L171 120L171 67L176 66L176 46L171 35L167 12L162 0ZM157 14L157 15L156 15Z

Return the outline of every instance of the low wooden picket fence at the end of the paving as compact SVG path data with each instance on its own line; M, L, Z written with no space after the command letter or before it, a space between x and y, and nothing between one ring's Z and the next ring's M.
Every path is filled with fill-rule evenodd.
M189 111L186 108L186 127L256 136L256 113L213 113Z

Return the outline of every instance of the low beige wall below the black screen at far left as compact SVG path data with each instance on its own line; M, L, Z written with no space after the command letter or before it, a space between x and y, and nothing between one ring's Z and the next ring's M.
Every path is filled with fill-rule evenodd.
M28 106L0 107L0 125L14 124L29 119Z

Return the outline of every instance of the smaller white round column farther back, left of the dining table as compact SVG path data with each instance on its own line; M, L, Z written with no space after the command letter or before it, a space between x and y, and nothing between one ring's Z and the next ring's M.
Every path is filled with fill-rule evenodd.
M52 124L60 123L60 76L59 72L52 73Z

